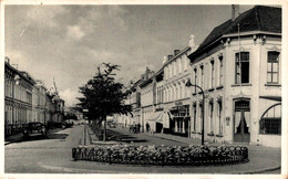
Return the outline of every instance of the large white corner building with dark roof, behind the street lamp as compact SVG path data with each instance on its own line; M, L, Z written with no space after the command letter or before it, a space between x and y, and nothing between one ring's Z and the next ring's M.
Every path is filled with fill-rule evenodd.
M281 9L256 6L216 27L188 55L192 137L280 147Z

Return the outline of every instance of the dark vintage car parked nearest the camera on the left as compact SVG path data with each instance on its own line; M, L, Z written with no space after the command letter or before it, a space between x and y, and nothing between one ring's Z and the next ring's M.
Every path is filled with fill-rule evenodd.
M31 136L44 136L47 137L47 127L44 124L39 122L29 123L28 127L23 131L24 138Z

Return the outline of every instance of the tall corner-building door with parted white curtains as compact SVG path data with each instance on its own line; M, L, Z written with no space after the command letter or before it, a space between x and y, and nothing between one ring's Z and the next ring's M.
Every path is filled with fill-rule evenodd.
M250 133L250 103L249 101L239 101L235 103L234 115L234 141L249 143Z

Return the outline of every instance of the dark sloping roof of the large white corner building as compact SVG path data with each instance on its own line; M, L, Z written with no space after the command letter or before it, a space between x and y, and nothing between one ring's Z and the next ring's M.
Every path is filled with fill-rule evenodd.
M281 33L281 8L256 6L245 11L235 21L228 20L214 28L194 53L198 53L224 34L238 33L238 23L240 32L267 31Z

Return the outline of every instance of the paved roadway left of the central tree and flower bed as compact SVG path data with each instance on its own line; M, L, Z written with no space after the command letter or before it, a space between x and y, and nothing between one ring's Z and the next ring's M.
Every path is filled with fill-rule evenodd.
M50 172L41 167L45 160L71 160L71 148L79 145L83 126L74 126L55 134L49 138L20 140L4 147L4 172Z

